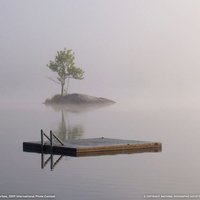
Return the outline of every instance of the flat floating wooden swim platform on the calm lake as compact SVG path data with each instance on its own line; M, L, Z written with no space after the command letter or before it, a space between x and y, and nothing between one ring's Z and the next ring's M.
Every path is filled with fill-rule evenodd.
M50 138L48 138L49 141L45 142L43 139L38 142L24 142L23 151L79 157L141 152L160 152L162 150L162 143L160 142L121 140L103 137L64 141L54 141L52 136Z

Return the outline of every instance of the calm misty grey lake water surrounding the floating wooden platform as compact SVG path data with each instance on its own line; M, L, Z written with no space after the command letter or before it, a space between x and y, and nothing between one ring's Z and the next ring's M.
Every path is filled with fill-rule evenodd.
M200 194L200 109L139 109L122 103L86 112L43 104L0 107L0 195L56 195L69 200L130 200L144 195ZM159 153L64 156L53 170L22 143L40 130L62 139L110 137L162 142ZM44 156L47 160L49 155ZM54 156L54 160L59 156Z

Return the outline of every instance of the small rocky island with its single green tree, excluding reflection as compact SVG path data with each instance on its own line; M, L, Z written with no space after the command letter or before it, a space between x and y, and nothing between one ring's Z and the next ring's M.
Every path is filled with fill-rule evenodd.
M57 51L55 61L50 60L47 67L57 74L56 79L48 77L51 81L61 85L61 94L54 95L51 99L46 99L46 105L71 105L71 104L87 104L87 105L110 105L115 102L102 97L95 97L86 94L68 93L69 79L83 80L84 71L77 68L74 63L74 53L72 50L64 48L63 51ZM67 88L64 85L67 80Z

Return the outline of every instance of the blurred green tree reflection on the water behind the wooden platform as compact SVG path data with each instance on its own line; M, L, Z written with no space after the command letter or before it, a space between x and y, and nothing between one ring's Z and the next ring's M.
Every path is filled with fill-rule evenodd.
M65 116L67 116L67 125L65 121ZM67 112L64 113L64 111L62 110L62 120L59 123L58 130L54 132L61 140L81 139L83 137L84 128L83 125L70 126L68 114Z

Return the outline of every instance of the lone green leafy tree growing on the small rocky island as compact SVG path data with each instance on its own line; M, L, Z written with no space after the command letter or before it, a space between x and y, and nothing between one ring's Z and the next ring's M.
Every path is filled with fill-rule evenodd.
M52 78L49 78L50 80L58 83L61 85L61 96L63 96L63 90L64 85L66 82L66 79L68 78L68 84L69 84L69 78L84 79L83 74L84 71L80 68L75 67L74 63L74 53L71 53L71 49L67 50L64 48L64 51L57 51L57 55L55 56L55 61L49 61L49 64L47 64L47 67L51 69L53 72L57 73L56 79L54 80ZM67 90L68 90L68 84L67 84Z

